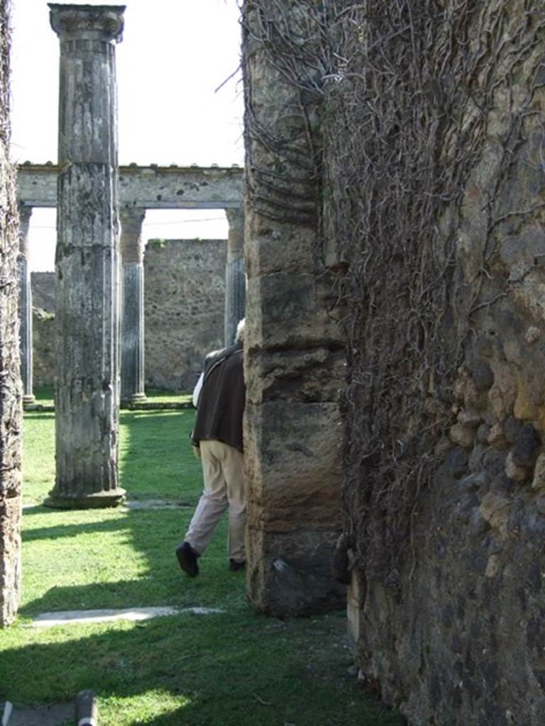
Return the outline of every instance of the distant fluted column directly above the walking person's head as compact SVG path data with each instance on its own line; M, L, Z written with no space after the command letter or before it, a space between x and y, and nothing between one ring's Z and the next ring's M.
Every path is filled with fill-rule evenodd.
M246 310L244 272L244 214L241 209L226 209L229 222L227 265L225 266L225 345L235 341L238 321Z

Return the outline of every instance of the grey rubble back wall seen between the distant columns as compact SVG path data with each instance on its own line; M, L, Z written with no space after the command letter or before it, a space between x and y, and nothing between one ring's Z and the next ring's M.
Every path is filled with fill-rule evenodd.
M223 345L226 240L150 242L144 258L145 385L190 390ZM55 274L33 272L35 386L55 380Z

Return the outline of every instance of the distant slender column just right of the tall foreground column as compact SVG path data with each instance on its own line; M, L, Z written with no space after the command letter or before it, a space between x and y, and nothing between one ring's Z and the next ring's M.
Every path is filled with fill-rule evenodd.
M121 208L121 401L145 401L144 245L145 209Z

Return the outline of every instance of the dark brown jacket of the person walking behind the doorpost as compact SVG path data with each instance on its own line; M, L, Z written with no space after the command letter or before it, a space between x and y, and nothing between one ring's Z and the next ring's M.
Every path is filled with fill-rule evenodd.
M245 403L242 343L206 356L193 443L215 439L242 451Z

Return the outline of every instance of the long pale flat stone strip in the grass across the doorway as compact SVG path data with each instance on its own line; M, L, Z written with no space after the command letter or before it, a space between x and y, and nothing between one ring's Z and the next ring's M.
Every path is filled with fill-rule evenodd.
M28 627L49 628L55 625L73 625L112 622L116 620L140 621L167 615L191 613L192 615L209 615L225 613L219 608L124 608L121 610L66 610L37 615Z

